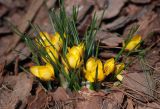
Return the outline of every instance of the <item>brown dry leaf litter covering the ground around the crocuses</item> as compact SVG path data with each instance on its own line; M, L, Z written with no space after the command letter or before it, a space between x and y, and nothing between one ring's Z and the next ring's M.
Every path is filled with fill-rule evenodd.
M138 33L141 34L145 40L144 47L148 47L156 40L159 40L160 15L158 12L160 9L159 6L157 6L159 3L158 0L87 1L88 3L83 0L78 2L66 0L66 8L68 13L71 13L69 11L73 5L76 4L80 6L78 29L80 32L82 31L83 36L83 31L87 29L93 12L97 11L98 18L100 19L100 15L103 11L103 4L106 3L107 10L101 21L101 31L96 36L96 40L100 40L100 46L103 46L102 48L105 49L100 51L100 54L103 54L103 56L101 56L102 58L115 56L115 51L121 47L126 34L134 24L140 25ZM4 22L5 18L11 18L13 15L17 14L16 11L21 11L17 16L24 16L26 14L25 8L27 8L28 11L31 12L30 18L18 20L21 22L20 24L22 24L22 30L24 32L29 31L30 28L26 22L27 20L33 21L34 19L35 23L40 25L45 24L47 26L46 31L50 31L48 30L48 28L50 29L50 27L48 27L48 16L44 15L45 9L39 10L39 8L44 8L41 4L42 2L39 2L40 4L38 4L38 7L36 7L35 10L32 10L35 6L29 8L29 6L32 6L31 3L32 2L28 2L28 5L25 0L16 0L14 4L13 0L6 0L5 2L0 1L0 6L2 6L2 10L0 10L0 21ZM12 7L10 7L11 5ZM56 2L53 2L52 6L55 5ZM22 10L20 10L20 8L22 8ZM17 17L14 19L16 21ZM153 109L160 107L159 42L147 52L146 57L148 63L145 63L152 71L152 73L149 74L149 77L154 78L153 80L149 80L149 82L153 82L155 87L149 86L148 88L148 80L145 78L146 75L141 69L140 63L135 62L127 69L128 73L124 74L126 78L122 83L123 90L121 90L121 87L119 86L116 91L102 91L103 93L88 92L87 90L84 90L89 96L86 96L85 93L77 94L77 92L75 92L76 94L74 95L72 92L68 92L61 87L46 92L33 80L32 75L26 73L10 75L11 72L9 72L6 67L3 67L4 65L8 66L12 64L17 56L20 56L20 61L23 62L27 60L30 55L30 52L24 46L24 43L21 42L19 38L15 37L8 28L9 25L5 25L3 22L0 22L0 66L2 66L0 67L1 109L44 109L54 107L68 109L120 109L122 107L127 109ZM46 26L44 26L44 29ZM154 34L151 35L151 33ZM111 48L114 48L115 50L112 50ZM15 50L22 52L26 58L18 53L16 54ZM134 59L134 57L131 58ZM14 72L14 70L12 72ZM37 88L34 88L33 84L38 84ZM35 94L32 94L32 91L34 91Z

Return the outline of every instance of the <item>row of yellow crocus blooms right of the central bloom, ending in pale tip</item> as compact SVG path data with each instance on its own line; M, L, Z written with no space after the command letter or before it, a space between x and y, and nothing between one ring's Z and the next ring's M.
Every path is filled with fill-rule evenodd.
M114 58L106 60L103 65L100 59L91 57L87 60L86 66L83 70L86 80L89 82L103 81L106 76L115 72L117 79L122 81L123 77L120 75L124 69L124 63L115 64Z

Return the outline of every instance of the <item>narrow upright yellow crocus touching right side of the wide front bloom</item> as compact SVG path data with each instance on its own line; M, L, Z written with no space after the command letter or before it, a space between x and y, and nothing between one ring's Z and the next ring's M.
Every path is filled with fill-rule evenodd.
M108 59L104 64L104 73L108 76L110 73L114 71L115 68L115 60L114 58Z

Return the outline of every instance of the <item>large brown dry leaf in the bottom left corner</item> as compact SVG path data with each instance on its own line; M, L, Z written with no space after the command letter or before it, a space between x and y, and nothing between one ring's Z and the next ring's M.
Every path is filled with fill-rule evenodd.
M33 77L23 72L19 73L18 76L4 78L0 89L0 109L15 109L17 106L24 108L27 103L27 97L30 95L32 84Z

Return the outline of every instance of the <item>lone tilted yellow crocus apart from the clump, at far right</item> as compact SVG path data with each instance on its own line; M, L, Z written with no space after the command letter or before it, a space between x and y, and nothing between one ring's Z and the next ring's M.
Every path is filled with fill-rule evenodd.
M127 44L125 50L132 51L133 49L138 48L138 44L141 42L142 37L140 35L135 35ZM123 44L124 45L124 44Z

